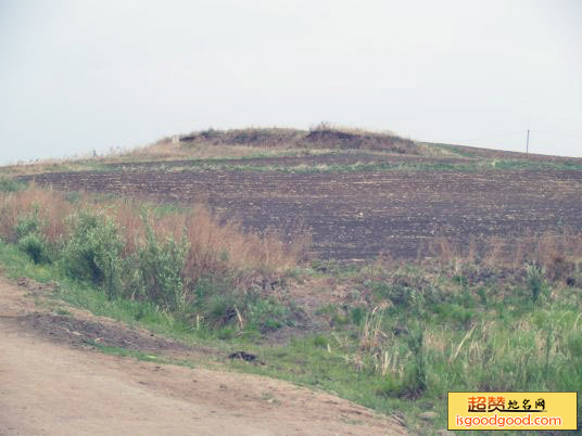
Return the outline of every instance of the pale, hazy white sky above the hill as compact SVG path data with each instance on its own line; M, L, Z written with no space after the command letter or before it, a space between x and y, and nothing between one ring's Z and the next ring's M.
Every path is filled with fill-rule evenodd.
M582 1L0 0L0 165L322 120L582 156Z

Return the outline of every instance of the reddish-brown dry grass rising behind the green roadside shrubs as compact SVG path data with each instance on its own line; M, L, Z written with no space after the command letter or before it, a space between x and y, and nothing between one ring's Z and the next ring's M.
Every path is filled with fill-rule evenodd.
M144 205L127 198L99 200L80 194L75 203L65 194L36 187L16 193L0 194L0 236L15 242L15 226L24 216L38 210L41 232L50 243L66 241L72 229L67 217L89 210L111 217L124 241L124 256L135 254L146 240L146 221L157 240L186 239L189 249L185 279L195 281L205 274L253 274L275 277L296 265L308 244L307 238L298 238L291 244L281 242L275 231L264 235L244 232L240 223L225 223L202 206L185 211L155 213L154 205ZM143 215L143 210L149 213Z

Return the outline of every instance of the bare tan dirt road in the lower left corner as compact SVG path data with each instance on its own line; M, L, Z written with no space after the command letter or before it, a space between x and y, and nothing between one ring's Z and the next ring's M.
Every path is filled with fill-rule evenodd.
M0 278L0 435L406 434L396 420L282 381L72 346L56 330L81 333L47 329L60 318L27 293ZM104 325L81 318L75 325Z

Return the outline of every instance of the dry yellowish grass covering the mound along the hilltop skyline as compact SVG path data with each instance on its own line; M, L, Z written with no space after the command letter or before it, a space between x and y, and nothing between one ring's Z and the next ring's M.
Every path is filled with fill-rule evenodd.
M316 133L314 136L314 133ZM311 130L289 128L245 128L204 130L181 136L180 142L172 138L130 150L111 150L105 155L92 153L66 158L40 159L0 168L5 175L35 175L51 171L79 171L94 169L104 164L132 161L175 161L187 158L237 158L261 155L280 155L309 150L320 152L338 149L364 149L378 152L441 155L442 149L421 145L391 131L375 132L331 124L320 124Z

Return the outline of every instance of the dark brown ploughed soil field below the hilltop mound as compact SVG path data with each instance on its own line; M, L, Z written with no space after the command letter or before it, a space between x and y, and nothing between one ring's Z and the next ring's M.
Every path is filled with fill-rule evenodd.
M312 158L312 157L309 157ZM207 203L246 229L313 234L314 255L362 260L379 253L425 256L435 236L460 246L582 228L582 171L180 170L43 174L61 190L121 193L160 202Z

